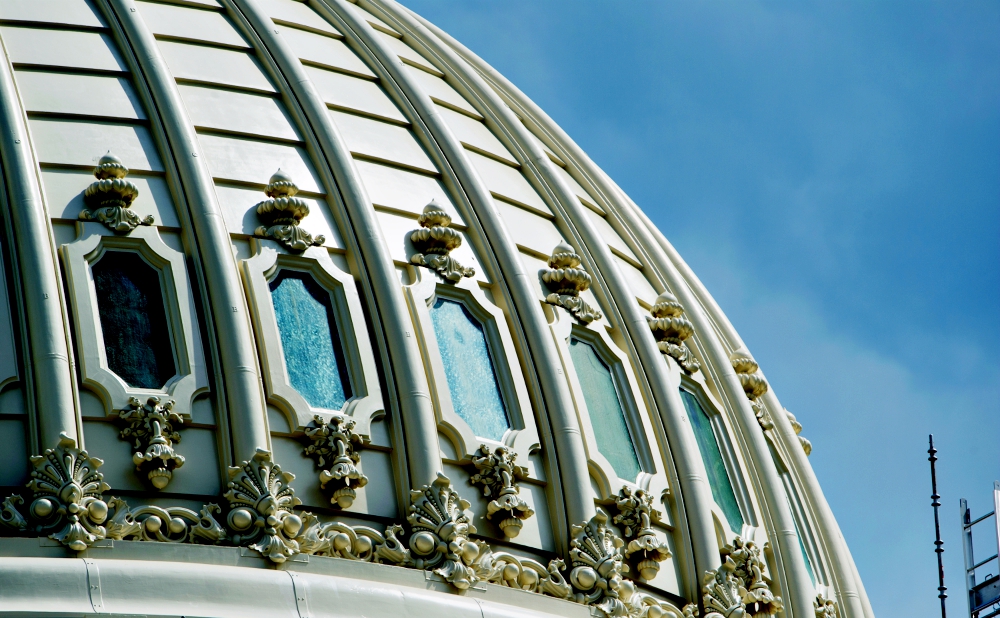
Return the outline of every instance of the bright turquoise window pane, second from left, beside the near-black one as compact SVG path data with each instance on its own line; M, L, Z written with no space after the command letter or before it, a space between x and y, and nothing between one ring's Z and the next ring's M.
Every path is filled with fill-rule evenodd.
M294 270L282 270L270 288L288 381L314 408L343 408L351 383L330 292Z

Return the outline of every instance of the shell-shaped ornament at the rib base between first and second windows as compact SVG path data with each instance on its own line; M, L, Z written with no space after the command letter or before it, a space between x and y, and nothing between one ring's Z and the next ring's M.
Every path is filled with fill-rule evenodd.
M299 553L296 535L302 529L302 518L292 509L302 502L295 497L289 483L295 476L282 472L271 461L271 453L257 449L250 461L229 468L229 517L226 523L236 534L233 543L253 543L272 562L282 563Z

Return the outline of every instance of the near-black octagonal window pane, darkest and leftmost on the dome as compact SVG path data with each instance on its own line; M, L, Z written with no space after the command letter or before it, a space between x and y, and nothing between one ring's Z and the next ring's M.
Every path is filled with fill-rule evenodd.
M108 369L129 386L162 388L177 371L159 271L137 253L109 251L91 272Z

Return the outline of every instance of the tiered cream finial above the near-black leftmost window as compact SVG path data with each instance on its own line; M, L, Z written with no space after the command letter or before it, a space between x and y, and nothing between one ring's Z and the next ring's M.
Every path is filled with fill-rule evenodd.
M128 234L140 225L153 225L152 216L140 219L132 211L139 188L125 179L128 168L110 150L98 161L94 176L97 180L83 192L86 208L80 212L81 220L100 221L116 234Z

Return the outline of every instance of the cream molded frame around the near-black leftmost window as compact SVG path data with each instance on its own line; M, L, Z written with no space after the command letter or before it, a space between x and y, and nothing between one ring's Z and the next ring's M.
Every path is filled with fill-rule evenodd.
M101 223L77 222L76 229L76 240L60 249L72 305L81 387L102 400L108 416L127 407L130 397L145 400L159 396L173 399L174 411L190 419L192 404L209 391L209 381L186 256L167 245L153 226L137 227L127 236L116 235ZM91 268L108 252L135 253L159 273L176 371L163 388L129 386L107 365Z

